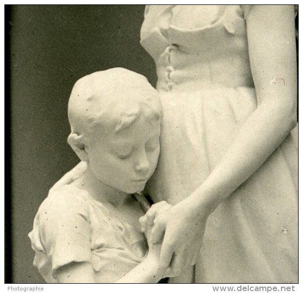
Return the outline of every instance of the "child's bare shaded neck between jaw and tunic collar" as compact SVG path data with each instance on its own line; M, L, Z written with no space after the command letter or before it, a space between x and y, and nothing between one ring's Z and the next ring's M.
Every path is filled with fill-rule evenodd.
M78 187L87 190L95 200L102 203L108 202L114 207L125 205L130 199L130 194L108 186L98 180L87 168L84 175L79 179Z

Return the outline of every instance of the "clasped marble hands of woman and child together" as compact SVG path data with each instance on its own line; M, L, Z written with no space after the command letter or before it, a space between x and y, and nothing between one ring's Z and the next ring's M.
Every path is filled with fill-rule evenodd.
M185 202L171 206L165 201L152 205L140 218L150 250L156 247L159 252L156 257L165 276L177 276L195 264L206 218L192 211Z

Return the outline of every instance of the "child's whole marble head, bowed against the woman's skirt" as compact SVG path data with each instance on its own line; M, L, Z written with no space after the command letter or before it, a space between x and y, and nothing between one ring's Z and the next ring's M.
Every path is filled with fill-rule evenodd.
M87 75L74 85L68 143L94 178L141 191L159 156L162 106L147 79L124 68Z

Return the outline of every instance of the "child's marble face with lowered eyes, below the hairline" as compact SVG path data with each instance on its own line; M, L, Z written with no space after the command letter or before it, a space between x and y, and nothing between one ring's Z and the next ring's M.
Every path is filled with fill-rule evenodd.
M118 133L95 131L89 145L88 163L102 183L126 193L142 191L156 168L160 144L160 122L140 117Z

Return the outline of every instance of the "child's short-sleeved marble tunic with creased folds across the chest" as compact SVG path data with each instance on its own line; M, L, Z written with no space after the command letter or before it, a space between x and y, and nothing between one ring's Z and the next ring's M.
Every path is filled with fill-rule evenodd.
M102 203L79 188L64 186L43 201L29 233L34 266L47 283L58 269L91 262L96 283L113 283L144 259L144 234L113 217Z

